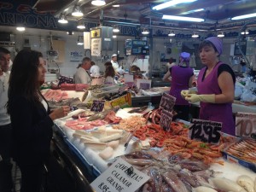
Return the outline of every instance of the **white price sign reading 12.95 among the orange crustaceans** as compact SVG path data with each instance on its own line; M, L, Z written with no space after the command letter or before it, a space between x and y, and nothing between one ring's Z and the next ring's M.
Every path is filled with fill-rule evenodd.
M218 144L222 123L210 120L192 119L189 138L204 143Z

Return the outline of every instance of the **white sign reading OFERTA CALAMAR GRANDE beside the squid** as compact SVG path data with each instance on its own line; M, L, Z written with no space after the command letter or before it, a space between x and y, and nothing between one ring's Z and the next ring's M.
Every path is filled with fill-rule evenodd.
M146 174L119 158L90 186L96 192L131 192L139 189L148 179Z

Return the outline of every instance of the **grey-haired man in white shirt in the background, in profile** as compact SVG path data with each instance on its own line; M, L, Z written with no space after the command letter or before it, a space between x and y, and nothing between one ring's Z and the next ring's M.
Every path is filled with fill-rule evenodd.
M79 66L77 72L74 74L74 80L76 84L89 84L90 74L88 73L88 70L90 70L91 64L90 64L90 58L84 57L82 64Z

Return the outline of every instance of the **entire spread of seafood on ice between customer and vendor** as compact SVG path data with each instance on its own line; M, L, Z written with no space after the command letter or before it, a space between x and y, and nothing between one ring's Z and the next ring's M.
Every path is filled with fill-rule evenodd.
M100 90L99 87L95 88ZM65 91L61 90L48 90L44 96L49 100L52 108L62 105L71 107L83 105L79 98L67 99ZM108 96L106 100L113 100L119 95ZM90 164L94 164L97 158L100 163L105 163L99 169L101 172L107 167L108 162L113 161L113 158L122 158L131 166L146 173L150 179L137 189L137 192L256 192L256 175L249 177L241 174L230 180L219 177L219 172L210 169L216 165L226 165L221 159L224 151L240 160L255 164L255 140L242 138L237 142L236 137L227 135L222 135L218 144L190 140L189 125L174 122L174 111L168 113L172 122L169 124L169 121L166 121L167 127L163 129L160 119L165 108L172 108L172 104L164 98L161 101L161 108L141 115L126 112L128 114L124 117L120 115L124 111L119 111L119 107L101 113L83 108L77 113L70 113L66 119L60 119L60 125L65 125L63 127L67 139L79 150L81 149L81 154L86 156L88 151L93 153L90 153L91 156L88 158L88 162L90 159L93 160ZM137 113L145 108L148 106L133 109L131 112ZM137 149L134 147L137 143L140 150L134 150ZM127 152L129 153L126 154ZM96 157L93 156L94 154ZM97 161L98 164L99 162Z

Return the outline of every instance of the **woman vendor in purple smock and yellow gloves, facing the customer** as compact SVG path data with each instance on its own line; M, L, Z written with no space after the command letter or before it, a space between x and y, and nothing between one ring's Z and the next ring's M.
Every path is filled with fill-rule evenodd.
M201 62L206 67L198 75L198 93L183 90L181 95L189 102L200 102L199 119L221 122L223 132L235 135L232 102L236 76L229 65L219 61L222 49L222 41L216 37L207 38L199 45Z

